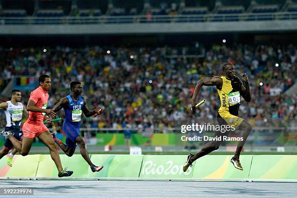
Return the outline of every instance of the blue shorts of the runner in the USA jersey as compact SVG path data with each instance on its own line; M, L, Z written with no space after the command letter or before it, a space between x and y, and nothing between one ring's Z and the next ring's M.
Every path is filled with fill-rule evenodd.
M80 127L74 126L71 123L63 123L63 132L66 133L66 146L76 148L76 138L80 135Z

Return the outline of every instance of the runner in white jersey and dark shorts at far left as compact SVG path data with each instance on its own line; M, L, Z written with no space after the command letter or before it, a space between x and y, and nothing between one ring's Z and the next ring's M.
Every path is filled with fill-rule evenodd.
M23 138L23 133L19 131L22 118L23 116L28 118L29 115L26 107L20 102L21 99L21 92L14 89L11 91L11 100L0 104L0 110L4 110L6 116L5 131L12 131L14 133L14 137L16 137L18 141L21 141ZM3 148L0 150L0 159L7 155L9 150L13 147L14 146L11 141L9 139L5 139ZM16 149L13 149L12 152L9 153L7 157L7 164L9 166L12 166L12 159L16 152Z

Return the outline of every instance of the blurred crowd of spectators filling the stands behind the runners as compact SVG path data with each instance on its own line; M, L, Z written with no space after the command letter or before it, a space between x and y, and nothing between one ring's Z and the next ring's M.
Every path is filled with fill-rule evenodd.
M70 93L71 81L80 81L90 109L105 109L103 116L84 118L82 127L172 127L176 117L192 116L190 99L197 81L223 75L221 66L231 62L237 76L248 74L252 92L249 104L242 101L239 116L297 116L297 96L284 94L297 79L295 46L213 45L204 58L165 58L166 50L171 48L1 49L0 89L14 75L48 74L53 107ZM196 116L216 117L220 101L215 87L203 87L201 99L206 104ZM4 127L3 112L0 116Z

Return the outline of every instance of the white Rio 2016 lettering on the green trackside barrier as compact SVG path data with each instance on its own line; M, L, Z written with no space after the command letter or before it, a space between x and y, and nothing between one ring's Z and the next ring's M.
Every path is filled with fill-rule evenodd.
M186 172L182 171L182 165L174 165L172 161L167 161L165 165L157 165L153 161L147 161L142 168L142 175L190 175L192 167Z

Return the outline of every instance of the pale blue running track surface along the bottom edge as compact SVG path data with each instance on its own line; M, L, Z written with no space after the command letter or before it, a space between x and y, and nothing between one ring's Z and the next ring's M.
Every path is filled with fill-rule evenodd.
M33 188L33 196L22 198L297 198L294 182L0 180L0 188L7 187Z

